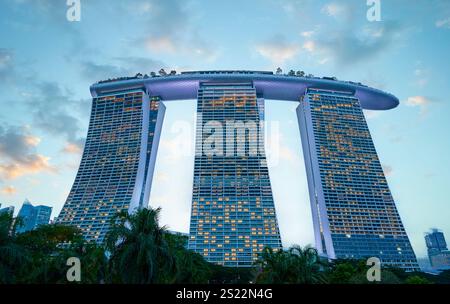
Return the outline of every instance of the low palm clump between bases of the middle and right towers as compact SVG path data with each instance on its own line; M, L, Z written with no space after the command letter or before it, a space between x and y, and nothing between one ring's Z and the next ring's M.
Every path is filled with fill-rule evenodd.
M286 250L274 251L264 248L256 261L260 273L257 283L264 284L318 284L325 283L321 272L323 263L317 250L311 247L293 246Z

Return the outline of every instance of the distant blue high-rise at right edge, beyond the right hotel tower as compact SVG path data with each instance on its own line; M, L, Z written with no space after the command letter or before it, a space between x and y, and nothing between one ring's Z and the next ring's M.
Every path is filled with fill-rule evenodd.
M450 269L450 251L444 233L433 229L425 235L425 243L431 267L438 270Z

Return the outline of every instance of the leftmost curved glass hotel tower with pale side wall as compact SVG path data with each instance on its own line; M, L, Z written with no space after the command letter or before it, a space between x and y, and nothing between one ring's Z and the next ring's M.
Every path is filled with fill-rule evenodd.
M159 99L142 90L93 99L81 164L57 222L102 242L116 213L148 204L163 115Z

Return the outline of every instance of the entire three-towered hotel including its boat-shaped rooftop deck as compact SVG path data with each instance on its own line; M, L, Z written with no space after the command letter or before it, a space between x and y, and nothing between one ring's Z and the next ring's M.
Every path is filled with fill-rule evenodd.
M188 248L231 267L251 266L266 246L280 249L264 137L256 134L264 100L288 100L298 103L319 253L418 268L363 114L395 108L399 101L393 95L335 78L258 71L139 75L98 82L91 94L84 153L57 219L79 227L87 240L102 242L117 212L148 206L164 102L196 99ZM249 143L243 143L234 136L239 130L219 128L230 121L252 122L258 132L244 129ZM229 147L231 137L243 150L222 153L222 143L210 142L214 134L227 138L223 146Z

